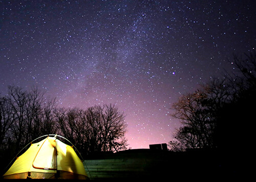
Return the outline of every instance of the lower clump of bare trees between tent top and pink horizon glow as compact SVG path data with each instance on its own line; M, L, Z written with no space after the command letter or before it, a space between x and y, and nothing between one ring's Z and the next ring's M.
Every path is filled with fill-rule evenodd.
M78 108L56 111L60 133L81 153L126 149L127 124L115 105L94 106L85 111Z

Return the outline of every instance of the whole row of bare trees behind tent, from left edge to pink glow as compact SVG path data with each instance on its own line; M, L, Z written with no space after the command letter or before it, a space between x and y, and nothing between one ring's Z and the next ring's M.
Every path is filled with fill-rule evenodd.
M34 88L9 86L0 97L0 157L13 158L32 140L49 134L67 138L82 155L126 149L127 124L116 105L86 110L59 108L56 100Z

